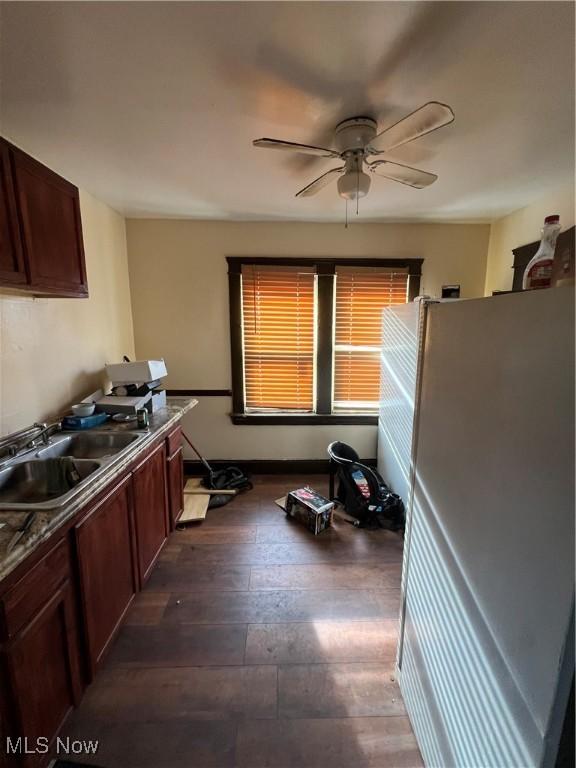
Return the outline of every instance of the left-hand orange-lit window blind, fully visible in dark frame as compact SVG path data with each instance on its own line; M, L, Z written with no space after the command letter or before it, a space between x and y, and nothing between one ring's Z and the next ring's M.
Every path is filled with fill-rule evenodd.
M314 296L313 267L242 267L247 410L314 409Z

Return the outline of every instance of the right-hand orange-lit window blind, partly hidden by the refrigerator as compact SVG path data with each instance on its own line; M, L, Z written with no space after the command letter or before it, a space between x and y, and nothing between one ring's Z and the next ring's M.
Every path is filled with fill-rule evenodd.
M336 268L335 410L378 407L382 310L407 300L407 269Z

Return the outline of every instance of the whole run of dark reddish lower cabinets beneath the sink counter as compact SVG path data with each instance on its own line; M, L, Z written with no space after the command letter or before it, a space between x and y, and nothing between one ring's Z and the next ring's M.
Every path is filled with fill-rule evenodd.
M33 566L0 583L1 768L47 763L48 746L150 573L168 536L168 499L174 514L182 499L182 450L175 431L168 438L55 534ZM26 754L26 746L39 751Z

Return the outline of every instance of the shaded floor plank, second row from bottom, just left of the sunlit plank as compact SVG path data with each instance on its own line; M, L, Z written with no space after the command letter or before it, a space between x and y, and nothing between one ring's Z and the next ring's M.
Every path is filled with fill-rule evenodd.
M85 721L275 718L274 666L106 669L82 702Z

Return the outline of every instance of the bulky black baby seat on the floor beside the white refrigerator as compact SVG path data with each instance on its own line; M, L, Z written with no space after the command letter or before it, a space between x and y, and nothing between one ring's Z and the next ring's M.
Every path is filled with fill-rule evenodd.
M404 531L404 504L392 493L372 467L360 462L352 446L336 441L328 446L330 476L338 476L336 500L346 512L367 528L391 528Z

